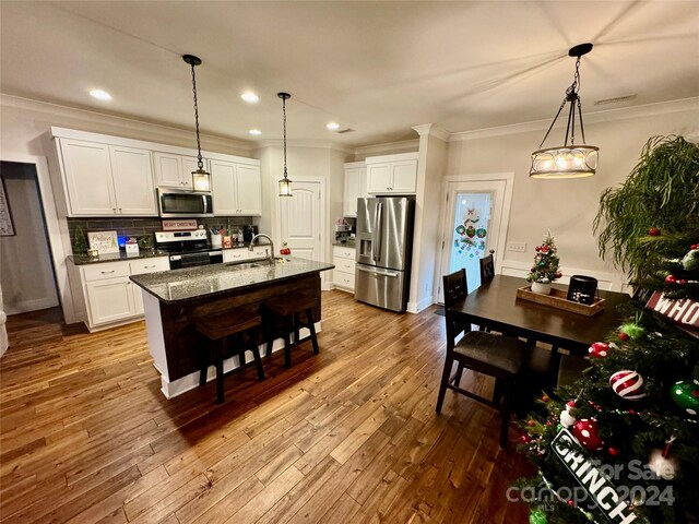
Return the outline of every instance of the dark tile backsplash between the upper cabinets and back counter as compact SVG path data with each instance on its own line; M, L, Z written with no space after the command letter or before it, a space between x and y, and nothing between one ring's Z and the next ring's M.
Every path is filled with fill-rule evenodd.
M241 229L242 226L257 225L258 217L249 216L215 216L212 218L197 218L198 225L203 225L204 229L223 227L226 229L228 225L234 233ZM87 243L88 231L117 231L119 237L151 237L155 231L161 231L163 225L161 218L157 217L94 217L94 218L68 218L68 230L70 231L70 241L73 253L75 253L75 241L78 236L76 229L82 229L85 243Z

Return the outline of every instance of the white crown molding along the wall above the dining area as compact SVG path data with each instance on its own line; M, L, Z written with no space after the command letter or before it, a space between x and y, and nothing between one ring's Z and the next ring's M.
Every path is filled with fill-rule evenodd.
M696 110L699 110L699 97L587 112L585 123L611 122L615 120L627 120L630 118L653 117L657 115ZM564 119L564 121L555 126L554 129L564 128L565 124L566 122ZM528 133L531 131L545 131L548 129L548 126L550 126L550 119L513 123L511 126L500 126L497 128L476 129L474 131L461 131L458 133L451 133L449 142L487 139L491 136L503 136L507 134Z

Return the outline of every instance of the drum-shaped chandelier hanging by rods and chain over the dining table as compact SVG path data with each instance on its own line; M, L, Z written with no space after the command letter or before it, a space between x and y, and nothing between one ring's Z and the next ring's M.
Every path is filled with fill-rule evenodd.
M532 168L529 172L531 178L583 178L593 176L597 169L597 152L600 148L594 145L585 145L585 130L582 127L582 109L580 107L580 96L578 95L580 91L580 57L591 50L592 44L580 44L568 51L569 57L577 57L576 74L572 85L566 90L564 102L558 108L558 112L554 117L548 131L546 131L538 151L532 153ZM567 103L570 103L570 109L568 111L564 145L542 148L548 138L548 133L550 133L556 123L558 115L560 115ZM576 145L576 109L580 119L582 145ZM569 136L570 145L568 144Z

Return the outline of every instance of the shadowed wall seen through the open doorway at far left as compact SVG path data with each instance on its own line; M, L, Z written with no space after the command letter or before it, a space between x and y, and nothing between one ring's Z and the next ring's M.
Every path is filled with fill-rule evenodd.
M33 165L2 163L15 236L0 237L0 285L8 314L59 305Z

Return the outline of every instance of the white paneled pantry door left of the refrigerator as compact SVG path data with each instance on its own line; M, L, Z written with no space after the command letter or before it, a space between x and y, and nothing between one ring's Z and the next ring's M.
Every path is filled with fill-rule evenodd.
M321 261L320 182L294 181L292 196L279 199L282 242L291 248L293 257Z

